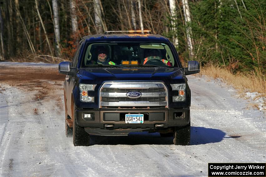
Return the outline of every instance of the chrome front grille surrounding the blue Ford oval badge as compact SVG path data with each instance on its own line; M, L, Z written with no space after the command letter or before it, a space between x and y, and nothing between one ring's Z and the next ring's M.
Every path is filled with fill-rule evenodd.
M140 98L126 96L139 91ZM168 107L167 88L163 82L106 82L100 88L99 108L106 107Z

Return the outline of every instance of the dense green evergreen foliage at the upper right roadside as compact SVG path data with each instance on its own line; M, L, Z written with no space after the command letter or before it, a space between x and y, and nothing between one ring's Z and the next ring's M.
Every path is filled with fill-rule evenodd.
M204 0L190 3L196 60L232 71L265 73L266 3L264 0ZM244 6L245 5L245 6Z

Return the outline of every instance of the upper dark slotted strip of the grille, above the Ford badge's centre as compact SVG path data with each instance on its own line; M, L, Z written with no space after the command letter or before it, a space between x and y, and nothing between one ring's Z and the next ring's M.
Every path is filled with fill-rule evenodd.
M102 89L102 92L109 92L109 93L115 93L115 92L127 93L129 91L132 91L132 89L121 89L121 88L103 88ZM164 87L144 88L144 89L134 89L134 91L139 91L141 93L145 93L145 92L164 92L165 88Z

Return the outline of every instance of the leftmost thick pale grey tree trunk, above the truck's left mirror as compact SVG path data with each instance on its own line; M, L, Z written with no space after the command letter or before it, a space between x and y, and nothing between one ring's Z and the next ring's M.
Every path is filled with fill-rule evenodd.
M57 0L52 0L53 12L54 12L54 34L55 34L55 49L56 56L60 56L60 28L59 28L59 15Z

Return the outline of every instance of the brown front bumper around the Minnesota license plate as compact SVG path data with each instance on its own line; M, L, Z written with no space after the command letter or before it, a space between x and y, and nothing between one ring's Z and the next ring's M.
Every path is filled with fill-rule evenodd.
M84 114L91 114L90 120ZM125 114L144 114L143 124L126 124ZM93 135L128 135L133 131L165 129L174 126L185 126L190 122L190 109L150 108L150 109L78 109L76 110L77 124L84 127ZM156 124L163 124L158 128ZM113 125L105 128L105 125Z

